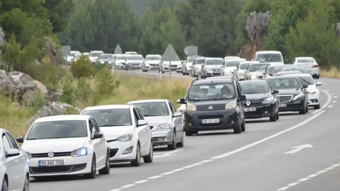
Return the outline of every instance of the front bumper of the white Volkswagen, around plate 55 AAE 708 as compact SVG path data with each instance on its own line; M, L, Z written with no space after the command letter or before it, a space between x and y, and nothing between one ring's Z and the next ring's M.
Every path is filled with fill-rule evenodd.
M39 167L39 160L64 160L64 165ZM91 172L91 163L92 154L79 157L34 157L29 159L30 177L86 174Z

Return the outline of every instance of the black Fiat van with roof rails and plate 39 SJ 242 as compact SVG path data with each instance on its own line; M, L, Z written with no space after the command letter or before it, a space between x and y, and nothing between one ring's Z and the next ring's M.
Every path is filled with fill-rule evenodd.
M209 130L245 131L242 101L246 98L240 92L240 84L233 77L193 80L186 99L179 101L186 104L185 135Z

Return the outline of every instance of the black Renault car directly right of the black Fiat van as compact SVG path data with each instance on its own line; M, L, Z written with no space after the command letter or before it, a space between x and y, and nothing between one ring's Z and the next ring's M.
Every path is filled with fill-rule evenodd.
M279 119L278 90L271 90L265 80L240 81L242 94L246 100L244 105L244 118L256 119L269 117L270 121Z

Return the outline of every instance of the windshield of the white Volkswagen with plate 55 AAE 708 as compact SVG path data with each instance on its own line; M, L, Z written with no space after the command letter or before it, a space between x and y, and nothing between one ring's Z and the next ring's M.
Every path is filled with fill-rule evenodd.
M87 137L85 120L33 123L26 140Z

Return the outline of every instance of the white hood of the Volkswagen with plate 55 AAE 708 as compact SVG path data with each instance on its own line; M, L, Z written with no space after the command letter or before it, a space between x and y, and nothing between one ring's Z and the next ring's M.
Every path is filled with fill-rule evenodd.
M29 153L69 152L82 148L88 137L25 140L21 148Z

